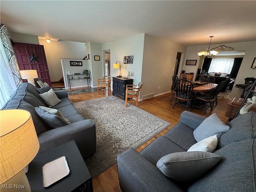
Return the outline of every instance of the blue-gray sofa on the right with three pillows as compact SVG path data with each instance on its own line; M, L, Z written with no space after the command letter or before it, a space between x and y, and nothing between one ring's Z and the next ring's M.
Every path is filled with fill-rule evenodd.
M117 158L122 192L256 192L255 112L239 115L228 123L230 129L218 137L213 152L221 160L196 180L176 181L158 170L160 158L186 152L196 143L193 132L204 119L184 111L178 124L140 153L132 148L122 152Z

